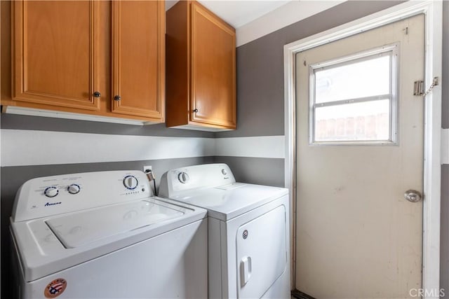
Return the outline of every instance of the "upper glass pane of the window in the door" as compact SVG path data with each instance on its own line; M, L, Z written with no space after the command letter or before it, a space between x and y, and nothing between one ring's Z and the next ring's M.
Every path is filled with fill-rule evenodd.
M388 95L390 55L315 70L315 103Z

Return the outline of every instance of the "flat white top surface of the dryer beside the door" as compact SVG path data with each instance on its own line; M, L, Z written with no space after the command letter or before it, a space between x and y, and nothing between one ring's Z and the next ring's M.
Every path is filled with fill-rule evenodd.
M286 188L232 183L191 190L171 198L207 209L208 216L227 221L287 194Z

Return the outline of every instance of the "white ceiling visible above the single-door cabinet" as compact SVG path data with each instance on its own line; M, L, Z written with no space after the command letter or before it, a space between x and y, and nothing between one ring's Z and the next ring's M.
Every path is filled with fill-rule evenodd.
M292 0L199 0L203 6L236 29L290 1ZM166 10L176 2L176 0L166 1Z

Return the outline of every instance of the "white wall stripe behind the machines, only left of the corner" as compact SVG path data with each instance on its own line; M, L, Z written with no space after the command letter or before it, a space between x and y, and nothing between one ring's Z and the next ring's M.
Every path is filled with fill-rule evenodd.
M213 138L1 130L1 166L159 160L214 153Z

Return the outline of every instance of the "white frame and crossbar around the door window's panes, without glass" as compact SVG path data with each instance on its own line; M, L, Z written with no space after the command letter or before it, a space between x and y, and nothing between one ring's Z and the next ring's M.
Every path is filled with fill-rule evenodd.
M399 74L399 43L385 45L379 48L366 50L339 57L333 60L318 62L309 65L309 145L311 146L397 146L398 145L398 74ZM315 72L316 70L333 69L347 64L371 60L374 57L388 55L391 57L389 65L390 86L389 94L374 95L370 97L359 97L355 99L341 99L324 103L315 103ZM338 106L343 104L356 104L363 102L374 102L380 99L389 100L389 139L387 140L335 140L316 141L315 140L315 109L326 106Z

